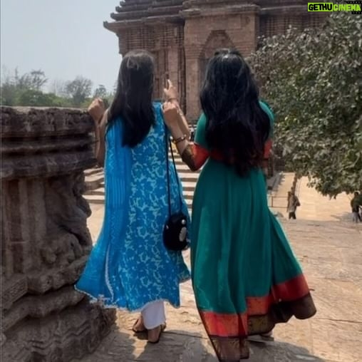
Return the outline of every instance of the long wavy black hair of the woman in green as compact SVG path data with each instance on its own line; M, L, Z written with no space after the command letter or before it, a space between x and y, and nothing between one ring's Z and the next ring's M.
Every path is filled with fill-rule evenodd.
M252 72L238 51L221 49L210 59L200 101L209 147L241 176L259 167L270 121L259 105Z

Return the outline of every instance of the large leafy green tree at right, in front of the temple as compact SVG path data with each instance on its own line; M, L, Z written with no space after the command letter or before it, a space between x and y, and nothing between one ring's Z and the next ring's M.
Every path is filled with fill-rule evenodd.
M323 195L362 189L362 17L263 39L249 63L276 113L286 166Z

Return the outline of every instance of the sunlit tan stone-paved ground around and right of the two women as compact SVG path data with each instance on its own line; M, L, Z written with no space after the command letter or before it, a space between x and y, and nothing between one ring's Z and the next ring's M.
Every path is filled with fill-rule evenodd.
M303 202L303 195L299 196ZM92 210L90 233L96 237L103 206L93 205ZM276 341L253 343L249 361L362 361L362 227L328 218L320 222L282 219L282 224L309 280L318 312L313 319L292 319L276 326ZM133 335L130 329L137 315L118 311L113 332L93 355L80 361L217 362L195 309L190 282L182 284L181 294L180 309L167 307L167 330L158 345L150 346L145 336Z

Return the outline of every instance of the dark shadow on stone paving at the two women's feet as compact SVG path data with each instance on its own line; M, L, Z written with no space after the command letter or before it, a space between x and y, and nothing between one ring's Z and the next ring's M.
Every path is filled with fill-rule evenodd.
M199 333L167 330L160 342L150 344L147 336L132 336L115 327L98 349L81 362L218 362L209 340ZM79 360L73 360L76 362ZM306 348L280 341L250 342L249 362L324 362Z

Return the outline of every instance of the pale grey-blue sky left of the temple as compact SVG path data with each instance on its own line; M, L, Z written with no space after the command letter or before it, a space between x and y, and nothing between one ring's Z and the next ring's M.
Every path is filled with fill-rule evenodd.
M41 69L52 81L84 76L112 90L120 55L115 33L103 28L118 0L0 0L1 76Z

